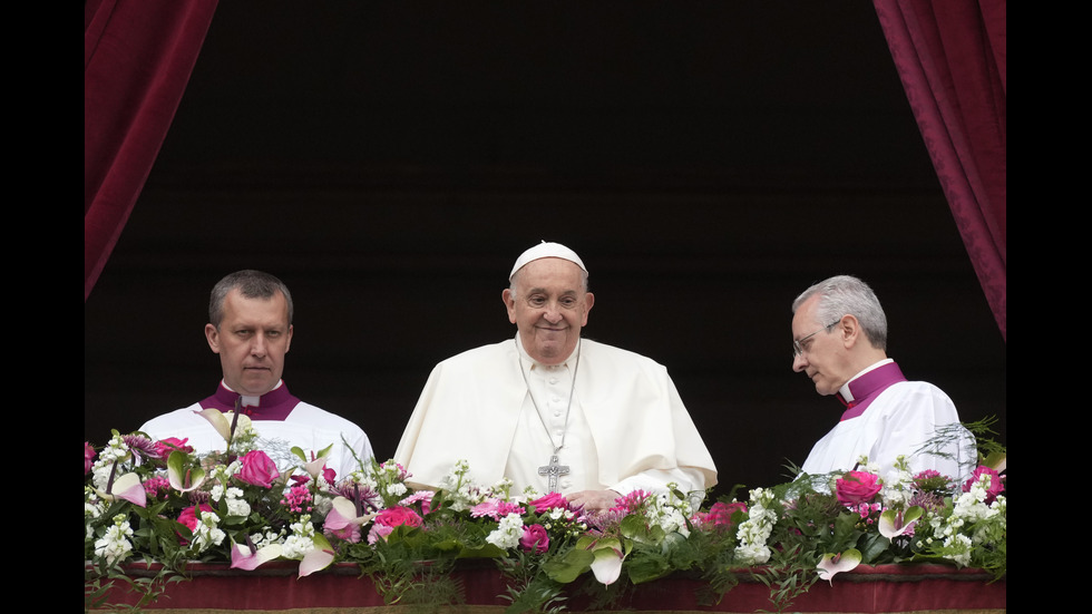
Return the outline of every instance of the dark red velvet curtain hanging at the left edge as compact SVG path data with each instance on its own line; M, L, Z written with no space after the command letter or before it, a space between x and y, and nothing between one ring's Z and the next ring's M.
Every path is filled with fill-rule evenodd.
M85 302L152 170L216 3L84 3Z

